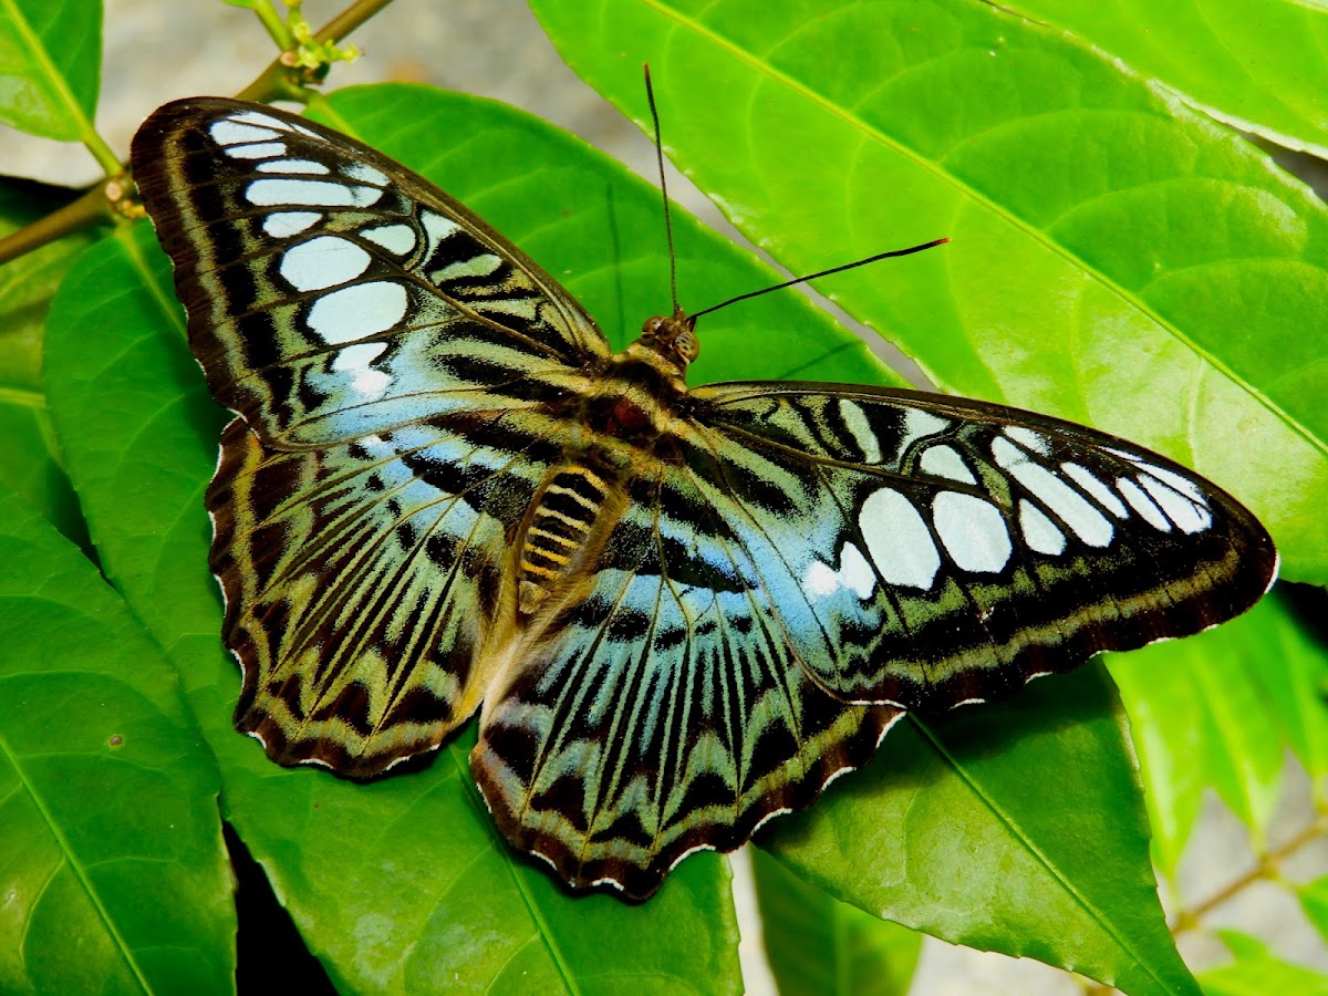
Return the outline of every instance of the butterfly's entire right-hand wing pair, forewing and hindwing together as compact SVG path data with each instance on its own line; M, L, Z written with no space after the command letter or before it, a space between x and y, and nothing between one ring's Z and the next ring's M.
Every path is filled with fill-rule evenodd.
M891 705L1197 632L1276 570L1232 498L1068 422L819 384L692 400L471 756L509 838L579 886L648 895L865 764Z

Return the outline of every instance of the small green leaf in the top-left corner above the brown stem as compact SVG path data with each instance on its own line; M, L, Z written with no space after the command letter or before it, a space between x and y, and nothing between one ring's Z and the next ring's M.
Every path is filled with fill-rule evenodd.
M101 0L0 0L0 121L88 141L101 84Z

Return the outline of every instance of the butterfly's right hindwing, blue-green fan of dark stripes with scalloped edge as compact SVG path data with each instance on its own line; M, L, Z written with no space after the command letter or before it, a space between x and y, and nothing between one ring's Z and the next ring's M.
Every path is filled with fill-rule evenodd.
M471 754L510 839L575 886L632 896L810 805L900 714L818 688L696 479L641 470L591 594L495 681Z

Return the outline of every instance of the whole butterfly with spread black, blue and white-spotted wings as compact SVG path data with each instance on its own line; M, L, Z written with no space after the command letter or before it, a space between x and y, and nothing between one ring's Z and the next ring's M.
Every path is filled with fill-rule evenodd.
M235 413L208 487L235 725L368 780L477 710L519 850L640 899L859 768L904 710L1194 633L1259 522L1116 437L847 384L688 388L499 232L263 105L169 104L133 175Z

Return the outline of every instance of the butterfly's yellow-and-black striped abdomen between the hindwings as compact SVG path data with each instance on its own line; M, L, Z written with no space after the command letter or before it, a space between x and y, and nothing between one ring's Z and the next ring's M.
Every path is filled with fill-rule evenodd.
M535 611L584 560L608 485L586 467L559 470L539 495L521 548L518 608Z

